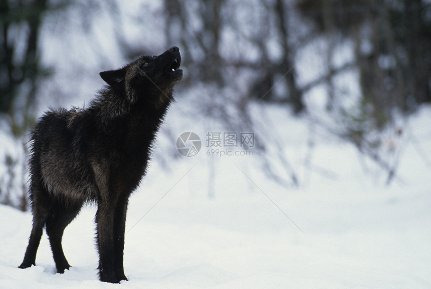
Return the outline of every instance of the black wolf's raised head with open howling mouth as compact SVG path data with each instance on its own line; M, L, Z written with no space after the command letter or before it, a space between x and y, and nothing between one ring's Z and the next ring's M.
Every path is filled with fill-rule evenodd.
M130 102L163 103L171 98L172 89L182 79L181 55L171 47L159 56L141 56L118 70L100 73L102 79Z

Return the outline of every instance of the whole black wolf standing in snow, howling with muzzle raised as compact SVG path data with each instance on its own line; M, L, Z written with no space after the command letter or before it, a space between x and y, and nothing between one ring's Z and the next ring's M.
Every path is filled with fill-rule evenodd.
M20 268L35 264L45 226L57 271L70 265L65 227L86 202L97 203L101 281L127 280L123 268L128 198L145 174L154 136L182 79L177 47L101 72L108 84L87 109L52 110L31 135L33 229Z

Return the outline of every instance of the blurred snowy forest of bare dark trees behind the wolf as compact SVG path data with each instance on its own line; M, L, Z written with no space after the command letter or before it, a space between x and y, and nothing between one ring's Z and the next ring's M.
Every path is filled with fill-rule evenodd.
M405 120L431 101L428 0L0 0L0 26L0 201L22 210L28 133L47 104L89 101L94 72L171 45L185 71L177 99L199 89L202 119L259 134L254 108L285 107L354 144L388 184ZM284 171L263 157L262 169L298 185L279 162Z

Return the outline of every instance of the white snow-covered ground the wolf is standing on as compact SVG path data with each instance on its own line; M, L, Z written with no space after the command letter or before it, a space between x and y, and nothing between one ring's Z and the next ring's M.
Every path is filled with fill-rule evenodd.
M37 265L17 268L32 216L0 206L0 288L431 288L430 115L423 108L409 121L390 186L354 147L327 137L309 166L319 170L301 168L309 126L288 117L278 129L299 187L269 179L256 154L211 157L204 144L172 170L154 161L130 199L121 284L97 280L94 206L66 228L64 274L45 233ZM155 158L166 147L175 149L160 137Z

